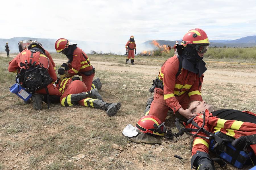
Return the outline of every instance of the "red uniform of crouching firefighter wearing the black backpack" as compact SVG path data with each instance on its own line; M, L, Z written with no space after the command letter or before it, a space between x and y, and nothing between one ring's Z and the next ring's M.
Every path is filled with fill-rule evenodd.
M36 56L36 55L39 55L39 56ZM53 69L53 65L52 65L51 62L49 62L47 56L44 55L44 54L40 54L39 52L36 52L32 55L32 53L28 49L23 50L12 61L9 62L8 71L13 72L13 73L16 73L16 72L20 73L20 70L22 68L25 69L25 66L21 67L20 63L25 64L25 60L27 60L28 63L30 63L30 61L31 61L31 63L33 63L35 58L38 58L37 62L40 63L40 65L44 68L47 68L48 64L49 64L48 73L51 76L52 80L56 81L57 76L56 76L55 70ZM36 63L36 65L37 65L37 63ZM59 90L55 86L53 86L53 84L49 84L47 86L47 88L48 88L48 91L49 91L49 95L61 96L61 93L59 92ZM37 90L36 93L47 94L46 90L44 88L40 89L40 90Z

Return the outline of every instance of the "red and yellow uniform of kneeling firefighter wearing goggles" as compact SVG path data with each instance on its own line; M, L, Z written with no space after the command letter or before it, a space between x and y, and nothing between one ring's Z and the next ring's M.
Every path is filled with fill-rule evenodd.
M203 101L201 97L203 75L199 78L197 74L182 69L176 77L178 69L177 56L169 58L162 65L158 78L163 82L164 90L155 88L154 100L146 115L154 115L161 122L165 122L169 107L175 113L181 107L187 109L190 101Z

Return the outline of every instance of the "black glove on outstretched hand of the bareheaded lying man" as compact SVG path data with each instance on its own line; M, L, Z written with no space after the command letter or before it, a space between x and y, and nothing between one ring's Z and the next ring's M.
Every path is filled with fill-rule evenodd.
M191 158L191 169L196 167L197 170L215 170L214 163L210 156L201 151L197 151Z

